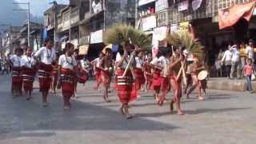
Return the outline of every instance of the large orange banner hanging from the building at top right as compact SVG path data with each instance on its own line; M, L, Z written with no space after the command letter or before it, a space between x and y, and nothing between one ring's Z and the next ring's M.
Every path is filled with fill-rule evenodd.
M244 18L249 22L254 12L255 2L256 1L234 4L230 8L218 10L219 29L222 30L226 27L234 26L240 18Z

